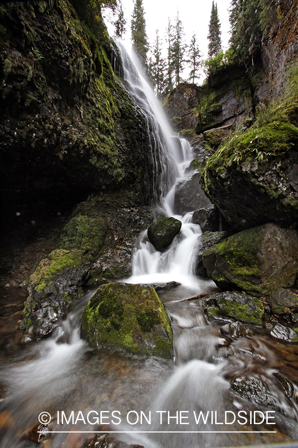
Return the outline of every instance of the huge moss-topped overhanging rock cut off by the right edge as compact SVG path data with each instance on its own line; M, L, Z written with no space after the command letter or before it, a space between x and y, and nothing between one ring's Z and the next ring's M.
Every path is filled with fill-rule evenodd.
M298 218L298 128L273 121L235 133L200 179L226 221L238 229Z

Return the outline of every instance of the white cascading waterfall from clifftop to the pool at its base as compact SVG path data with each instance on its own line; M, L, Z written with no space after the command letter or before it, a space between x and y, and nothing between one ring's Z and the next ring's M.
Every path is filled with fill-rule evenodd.
M129 56L121 43L118 46L124 79L148 124L149 157L154 167L154 202L159 200L166 216L174 216L182 222L180 233L162 253L149 242L147 230L140 235L133 259L133 276L127 281L166 283L175 280L193 287L194 292L199 294L203 292L202 287L214 285L212 281L206 282L194 276L201 228L191 223L192 213L175 215L173 205L176 183L184 178L185 170L193 160L193 151L187 140L174 135L137 56L134 53Z

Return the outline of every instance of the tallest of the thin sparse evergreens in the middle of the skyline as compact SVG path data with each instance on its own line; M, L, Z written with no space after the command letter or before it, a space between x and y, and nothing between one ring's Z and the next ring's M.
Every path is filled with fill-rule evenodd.
M177 12L176 22L173 26L173 35L172 35L172 45L170 47L170 60L173 68L173 72L175 74L175 84L176 86L181 81L181 73L184 69L184 51L186 49L186 45L183 42L184 31L182 22L179 19L179 12Z

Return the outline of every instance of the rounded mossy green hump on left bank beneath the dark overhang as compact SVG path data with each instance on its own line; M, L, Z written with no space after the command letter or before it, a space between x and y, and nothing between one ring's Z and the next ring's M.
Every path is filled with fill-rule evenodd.
M98 253L105 242L107 227L103 218L75 216L66 224L61 236L63 247Z

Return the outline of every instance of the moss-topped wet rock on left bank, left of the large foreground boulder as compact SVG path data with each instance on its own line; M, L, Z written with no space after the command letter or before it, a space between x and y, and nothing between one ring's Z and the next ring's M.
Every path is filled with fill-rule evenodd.
M83 278L91 262L81 250L53 250L41 260L30 276L28 292L19 328L24 329L23 342L48 336L68 304L82 294Z

